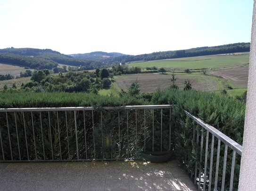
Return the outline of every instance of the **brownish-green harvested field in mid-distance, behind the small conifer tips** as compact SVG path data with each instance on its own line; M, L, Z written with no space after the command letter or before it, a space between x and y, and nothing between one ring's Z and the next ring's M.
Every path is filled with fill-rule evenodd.
M143 93L154 92L158 87L161 89L168 88L171 84L170 78L171 74L137 74L137 75L123 75L123 76L115 76L115 80L117 85L127 90L127 88L138 80L140 84L140 90ZM200 91L217 91L219 90L218 84L216 82L215 77L206 76L200 73L192 73L192 74L175 74L177 78L176 84L183 89L184 82L186 79L190 79L192 84L192 88Z

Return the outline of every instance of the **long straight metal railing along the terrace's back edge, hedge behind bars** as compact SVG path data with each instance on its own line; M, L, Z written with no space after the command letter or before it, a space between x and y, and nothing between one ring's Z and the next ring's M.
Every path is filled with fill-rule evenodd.
M170 150L171 109L0 109L0 161L135 159L141 151Z

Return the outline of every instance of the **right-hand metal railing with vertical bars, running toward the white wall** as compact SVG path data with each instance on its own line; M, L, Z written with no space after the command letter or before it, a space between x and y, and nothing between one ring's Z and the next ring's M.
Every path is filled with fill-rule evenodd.
M232 140L231 138L224 135L219 130L215 129L213 126L206 124L201 119L191 115L189 112L185 111L185 114L188 115L193 121L195 121L198 125L201 126L201 129L197 130L197 133L195 132L196 129L193 127L193 142L195 143L193 145L193 150L196 151L196 154L200 155L200 160L195 160L194 170L191 170L191 179L194 179L194 183L198 184L198 190L203 191L232 191L233 190L233 182L234 182L234 172L235 172L235 163L236 163L236 154L239 155L239 157L242 154L242 146L239 145L237 142ZM200 132L201 131L201 132ZM205 132L206 131L206 132ZM209 146L209 133L212 134L211 138L211 150L208 151ZM197 134L197 135L196 135ZM200 152L199 152L199 137L201 137L200 141ZM204 142L205 138L205 142ZM215 153L215 138L217 139L217 151ZM223 143L224 146L224 154L221 156L221 143ZM205 146L204 146L205 144ZM205 151L203 150L205 148ZM227 167L227 156L228 156L228 148L230 148L229 154L232 155L232 162L231 162L231 171L226 172ZM205 160L203 161L203 153L205 153ZM210 159L208 157L208 154L210 154ZM215 155L215 161L214 161L214 155ZM222 158L223 157L223 158ZM220 164L220 158L223 159L223 166ZM208 166L208 160L210 160L210 164ZM240 162L240 161L239 161ZM215 179L214 179L214 185L213 183L213 165L215 166ZM240 164L238 164L240 165ZM222 169L222 179L218 179L219 177L219 170ZM226 174L230 173L230 179L226 179ZM237 177L238 178L238 177ZM225 187L225 183L229 182L229 187ZM221 187L218 187L220 186ZM214 187L214 189L213 189Z

